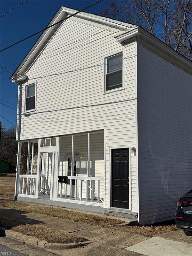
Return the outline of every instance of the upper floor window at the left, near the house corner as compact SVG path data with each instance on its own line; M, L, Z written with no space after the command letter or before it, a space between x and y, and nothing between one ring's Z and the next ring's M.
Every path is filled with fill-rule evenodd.
M35 84L26 86L25 111L35 109Z

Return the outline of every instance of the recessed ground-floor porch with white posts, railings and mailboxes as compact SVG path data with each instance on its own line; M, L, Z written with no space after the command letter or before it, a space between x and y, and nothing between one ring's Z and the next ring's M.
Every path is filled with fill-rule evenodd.
M104 131L20 141L17 196L104 207Z

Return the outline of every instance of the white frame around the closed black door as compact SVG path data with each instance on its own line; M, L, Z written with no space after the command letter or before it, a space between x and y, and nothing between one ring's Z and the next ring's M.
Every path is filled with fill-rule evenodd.
M117 208L112 206L112 161L113 161L113 155L112 155L112 150L113 149L129 149L129 208ZM118 147L109 147L109 208L114 208L114 209L123 209L124 211L129 210L131 211L131 146L118 146Z

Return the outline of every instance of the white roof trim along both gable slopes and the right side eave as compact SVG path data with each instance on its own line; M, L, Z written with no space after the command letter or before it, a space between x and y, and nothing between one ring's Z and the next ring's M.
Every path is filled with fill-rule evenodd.
M75 14L78 10L72 9L68 7L61 6L59 10L56 12L54 17L49 22L48 26L53 25L54 23L57 23L63 19L65 19L68 15ZM95 23L108 25L111 27L116 27L119 29L127 28L127 31L124 33L121 33L117 36L115 36L116 40L121 43L126 40L128 40L131 37L139 36L142 39L148 41L151 45L157 47L165 54L168 54L172 57L173 60L176 61L177 64L180 66L185 66L186 69L190 72L192 72L192 62L188 60L186 57L181 55L180 53L176 52L174 49L172 49L170 46L162 42L160 39L155 37L154 35L150 34L148 31L143 29L140 26L126 23L120 20L110 19L107 17L103 17L100 15L88 13L88 12L80 12L75 15L75 17L79 17L85 20L93 21ZM52 26L51 28L43 31L43 33L39 36L35 44L32 46L30 51L27 53L25 58L22 60L22 62L19 64L19 66L14 71L13 75L10 77L10 80L12 82L19 82L27 79L27 76L24 75L24 73L29 69L29 67L33 64L33 62L36 60L36 58L39 56L41 51L44 49L44 47L47 45L49 40L53 37L53 35L56 33L56 31L59 29L59 27L62 25L63 22L60 22L59 24L56 24L55 26Z

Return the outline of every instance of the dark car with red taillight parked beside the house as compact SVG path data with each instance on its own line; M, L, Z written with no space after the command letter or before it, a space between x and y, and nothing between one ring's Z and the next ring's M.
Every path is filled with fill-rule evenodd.
M187 236L192 236L192 190L177 200L175 221Z

